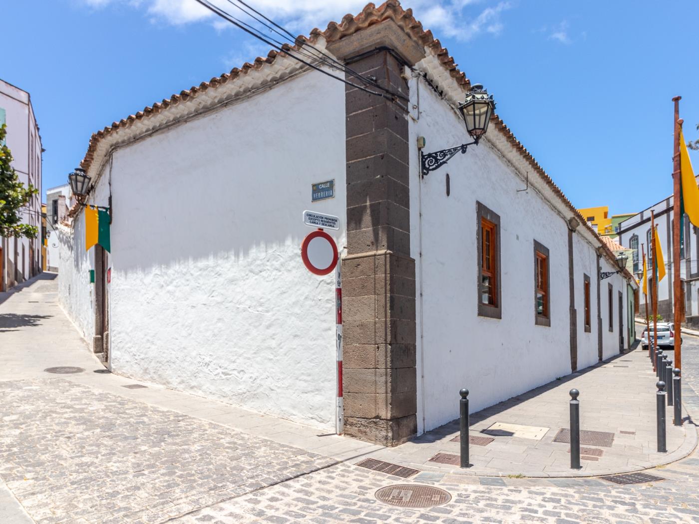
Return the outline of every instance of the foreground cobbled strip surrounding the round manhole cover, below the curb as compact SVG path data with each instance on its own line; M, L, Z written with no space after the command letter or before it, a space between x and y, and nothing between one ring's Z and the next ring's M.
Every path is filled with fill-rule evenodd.
M697 460L697 459L693 459ZM617 486L600 479L511 479L421 474L399 479L347 463L173 519L177 524L229 523L556 523L677 524L699 522L699 476L690 463L666 480ZM411 509L376 500L380 488L423 484L447 490L442 506Z

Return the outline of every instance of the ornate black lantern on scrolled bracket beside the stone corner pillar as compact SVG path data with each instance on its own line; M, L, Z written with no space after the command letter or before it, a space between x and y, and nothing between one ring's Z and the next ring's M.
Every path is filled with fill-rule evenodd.
M493 95L489 95L487 89L480 84L474 84L470 92L466 95L466 100L459 104L459 111L466 124L466 131L473 138L473 142L468 144L449 147L447 150L435 151L433 153L423 153L425 147L424 137L418 138L420 148L420 174L426 176L431 171L444 166L458 152L466 153L469 145L478 145L478 141L488 131L490 117L495 110Z

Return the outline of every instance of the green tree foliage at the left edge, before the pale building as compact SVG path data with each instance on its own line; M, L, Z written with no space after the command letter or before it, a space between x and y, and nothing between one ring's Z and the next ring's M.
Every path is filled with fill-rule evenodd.
M5 144L7 126L0 126L0 236L36 238L38 227L22 224L20 211L38 193L32 184L24 187L10 166L12 153Z

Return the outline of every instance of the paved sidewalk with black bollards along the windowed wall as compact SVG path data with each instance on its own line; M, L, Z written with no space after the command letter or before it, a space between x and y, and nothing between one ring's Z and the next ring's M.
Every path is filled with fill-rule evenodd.
M459 476L598 476L668 464L689 455L697 444L696 427L687 420L685 409L686 401L696 395L683 388L682 427L672 425L672 407L667 408L668 452L657 453L656 381L647 352L635 349L472 414L473 466L468 469L459 467L458 420L370 457L421 472ZM580 392L582 432L606 433L587 435L596 440L586 441L581 432L582 470L570 469L570 444L555 442L561 429L570 428L572 388ZM456 414L458 399L453 402ZM521 427L488 430L493 424Z

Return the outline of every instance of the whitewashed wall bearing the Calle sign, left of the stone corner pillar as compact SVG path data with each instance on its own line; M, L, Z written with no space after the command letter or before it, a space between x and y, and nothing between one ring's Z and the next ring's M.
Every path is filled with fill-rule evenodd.
M344 86L306 73L117 150L111 191L112 370L334 428L335 281L300 248L305 209L345 245Z

